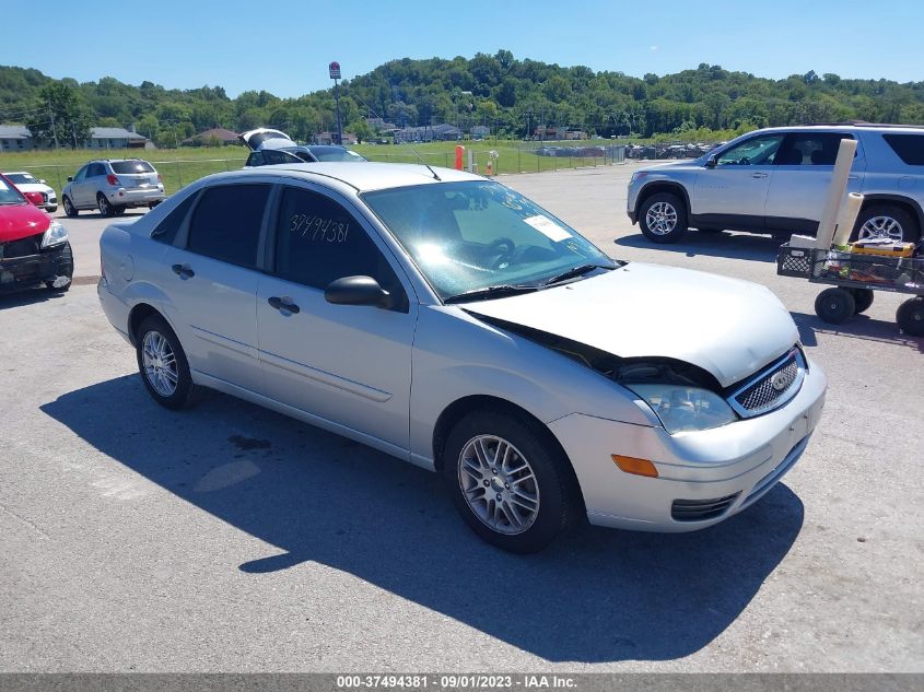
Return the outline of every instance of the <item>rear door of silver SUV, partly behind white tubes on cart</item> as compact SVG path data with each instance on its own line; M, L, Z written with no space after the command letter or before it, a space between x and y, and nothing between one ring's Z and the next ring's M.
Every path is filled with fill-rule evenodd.
M773 178L767 196L769 231L815 234L824 210L834 161L849 132L790 132L773 161ZM859 192L866 160L857 143L847 192Z

